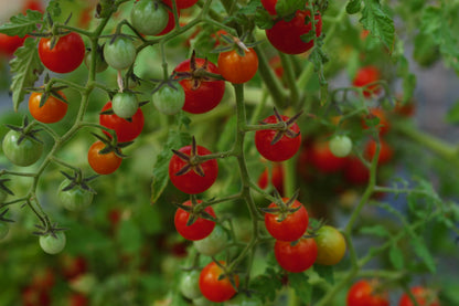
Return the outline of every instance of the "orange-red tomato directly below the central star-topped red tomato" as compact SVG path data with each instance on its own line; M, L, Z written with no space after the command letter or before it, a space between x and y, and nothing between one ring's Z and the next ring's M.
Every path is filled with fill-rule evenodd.
M201 200L198 200L198 203L201 202ZM191 201L189 200L184 202L183 205L191 207ZM215 212L212 207L206 207L204 211L210 215L215 217ZM215 228L215 222L204 218L198 218L193 224L186 225L189 219L190 212L180 208L175 211L175 217L173 220L175 230L186 240L195 241L204 239L209 236Z

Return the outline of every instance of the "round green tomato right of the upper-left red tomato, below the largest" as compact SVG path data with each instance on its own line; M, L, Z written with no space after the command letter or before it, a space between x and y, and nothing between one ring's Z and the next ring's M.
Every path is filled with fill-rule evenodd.
M125 36L118 36L114 42L109 41L104 46L104 59L107 64L116 70L129 67L136 61L136 46Z

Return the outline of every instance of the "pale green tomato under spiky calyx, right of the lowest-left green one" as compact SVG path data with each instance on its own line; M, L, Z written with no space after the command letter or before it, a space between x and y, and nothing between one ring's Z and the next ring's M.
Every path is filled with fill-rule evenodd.
M71 183L65 179L58 187L57 198L64 208L71 211L77 211L87 208L94 198L94 193L83 189L81 186L74 186L71 190L63 191Z

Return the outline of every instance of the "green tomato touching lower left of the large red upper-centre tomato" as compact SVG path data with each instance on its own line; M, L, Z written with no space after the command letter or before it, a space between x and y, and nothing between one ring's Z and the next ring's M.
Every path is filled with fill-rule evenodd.
M175 115L185 104L185 92L180 84L171 86L162 86L152 96L154 107L162 114Z

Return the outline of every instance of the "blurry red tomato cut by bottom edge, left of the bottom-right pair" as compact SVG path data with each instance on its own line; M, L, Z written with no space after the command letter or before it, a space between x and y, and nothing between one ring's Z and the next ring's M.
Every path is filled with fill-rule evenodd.
M387 293L376 289L377 284L365 279L352 285L348 292L348 306L388 306Z

